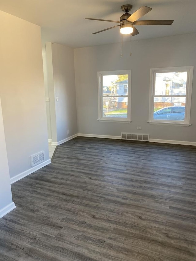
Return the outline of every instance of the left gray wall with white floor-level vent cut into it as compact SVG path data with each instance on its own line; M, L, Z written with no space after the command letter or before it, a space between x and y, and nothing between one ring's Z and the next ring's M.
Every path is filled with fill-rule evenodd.
M10 178L49 160L40 27L0 11L0 96Z

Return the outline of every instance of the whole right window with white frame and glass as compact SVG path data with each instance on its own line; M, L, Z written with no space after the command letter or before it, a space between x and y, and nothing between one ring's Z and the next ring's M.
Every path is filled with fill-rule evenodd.
M190 125L193 66L150 69L150 124Z

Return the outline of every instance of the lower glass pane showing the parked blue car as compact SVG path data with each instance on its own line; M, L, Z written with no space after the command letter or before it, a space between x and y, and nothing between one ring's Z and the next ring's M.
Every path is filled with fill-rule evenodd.
M184 121L186 98L154 98L154 120Z

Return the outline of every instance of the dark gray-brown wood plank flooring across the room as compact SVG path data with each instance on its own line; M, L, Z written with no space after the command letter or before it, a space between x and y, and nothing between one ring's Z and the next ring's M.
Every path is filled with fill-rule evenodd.
M77 137L12 185L1 261L195 261L196 148Z

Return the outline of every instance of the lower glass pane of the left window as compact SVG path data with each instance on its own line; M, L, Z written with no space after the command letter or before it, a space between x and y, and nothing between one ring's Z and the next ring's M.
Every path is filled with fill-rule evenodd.
M103 97L103 117L127 118L127 97Z

